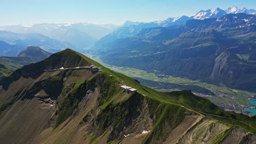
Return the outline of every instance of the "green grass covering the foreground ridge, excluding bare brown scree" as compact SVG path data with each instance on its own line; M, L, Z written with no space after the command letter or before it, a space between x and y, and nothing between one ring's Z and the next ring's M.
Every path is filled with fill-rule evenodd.
M88 66L90 64L101 67L102 71L96 74L92 74L89 70L44 71L45 69L60 68L62 66L69 68ZM109 75L112 75L112 77L109 77ZM21 76L24 78L20 79ZM32 79L28 79L28 77ZM64 78L67 78L67 82L63 80ZM86 129L90 134L85 136L88 139L86 141L91 143L97 143L100 140L100 136L104 136L108 131L108 142L121 140L122 137L120 136L123 136L122 131L124 127L126 125L131 126L129 124L131 120L138 118L138 115L142 115L141 113L144 111L142 107L148 107L148 115L153 119L151 132L144 137L144 143L160 143L163 139L166 140L169 132L181 124L185 117L192 115L189 113L194 113L197 116L204 115L217 119L220 123L245 128L252 133L256 133L254 117L249 118L234 112L225 112L212 104L210 100L197 97L189 91L167 93L155 91L139 84L128 76L103 67L100 63L70 49L55 53L42 62L26 65L16 70L10 77L5 78L4 81L1 81L16 83L16 85L13 84L16 87L21 86L20 83L17 85L17 81L31 81L33 85L30 87L28 83L28 86L24 86L28 89L22 90L16 95L14 94L7 101L1 101L0 112L7 111L11 104L15 104L15 99L19 99L22 95L22 100L34 99L34 94L43 89L44 93L52 95L57 101L55 106L57 108L55 113L56 123L52 125L52 133L59 133L59 131L66 128L74 130L71 127L66 127L66 125L74 124L73 122L69 123L70 121L78 121L78 124L85 123L88 127L92 127L89 130ZM121 83L136 88L138 93L125 95L126 93L121 91ZM71 88L69 89L68 87ZM8 89L8 86L5 85L3 88ZM88 96L88 92L96 91L94 90L95 88L98 89L99 94L97 97L94 97L94 95L90 98L95 98L96 104L92 104L91 108L86 109L86 111L81 109L83 106L80 104L83 105L83 99ZM10 89L7 91L9 92ZM0 99L4 100L3 97L0 97ZM88 115L88 113L90 114ZM81 117L83 122L79 121ZM41 125L44 125L44 123ZM138 133L141 133L141 131ZM49 137L49 141L51 138L54 137ZM67 140L67 137L64 138ZM222 139L223 136L217 138ZM63 141L56 141L56 143L58 142L63 143Z

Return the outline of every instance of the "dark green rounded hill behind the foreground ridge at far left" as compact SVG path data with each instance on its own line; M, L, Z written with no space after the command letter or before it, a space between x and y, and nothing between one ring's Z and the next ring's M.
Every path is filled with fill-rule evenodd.
M9 76L16 69L27 64L43 61L50 55L51 53L40 49L40 47L30 46L17 57L0 57L0 76Z

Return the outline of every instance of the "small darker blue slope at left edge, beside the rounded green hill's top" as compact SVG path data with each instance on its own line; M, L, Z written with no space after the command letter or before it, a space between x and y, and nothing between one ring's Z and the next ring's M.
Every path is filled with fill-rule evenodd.
M0 41L0 56L15 57L20 51L18 46Z

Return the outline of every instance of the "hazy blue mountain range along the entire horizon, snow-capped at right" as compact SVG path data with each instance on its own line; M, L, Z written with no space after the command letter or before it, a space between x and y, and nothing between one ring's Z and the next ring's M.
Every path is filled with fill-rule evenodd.
M173 25L184 25L185 22L191 19L211 19L218 18L225 14L237 14L237 13L246 13L246 14L256 14L254 9L238 9L237 7L228 8L226 10L222 9L208 9L200 10L198 13L191 16L180 16L180 17L170 17L163 21L154 21L154 22L131 22L126 21L124 25L117 26L112 24L107 25L95 25L92 23L38 23L30 27L23 25L16 26L1 26L0 30L9 31L14 33L21 34L31 34L37 33L45 35L50 39L59 40L59 43L66 43L64 46L57 44L57 46L52 47L42 45L43 38L38 43L32 43L32 41L25 41L22 39L17 45L17 41L5 41L6 43L19 46L22 45L23 49L27 46L32 45L40 46L42 49L57 52L63 50L67 47L70 47L74 50L84 52L85 48L96 47L98 49L104 49L106 44L112 43L115 39L127 38L132 35L138 34L144 28L153 28L153 27L169 27ZM100 39L100 40L99 40ZM16 39L17 40L17 39ZM96 45L95 45L96 43ZM69 45L68 45L69 44ZM25 46L24 46L25 45ZM95 45L95 46L94 46ZM60 47L61 48L60 48Z

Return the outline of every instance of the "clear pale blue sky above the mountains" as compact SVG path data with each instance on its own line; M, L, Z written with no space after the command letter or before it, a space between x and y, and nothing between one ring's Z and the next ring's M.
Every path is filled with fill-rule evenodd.
M254 0L4 0L0 4L0 25L43 22L90 22L121 25L130 21L165 20L192 15L203 9L237 6L256 9Z

